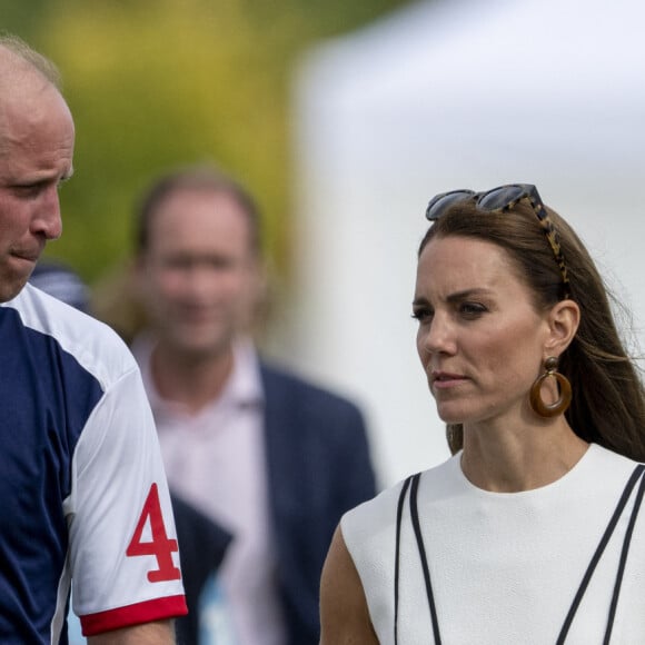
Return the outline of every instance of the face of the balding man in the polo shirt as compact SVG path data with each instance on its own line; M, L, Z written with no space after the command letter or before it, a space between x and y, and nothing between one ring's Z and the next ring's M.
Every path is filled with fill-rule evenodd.
M61 234L58 190L71 176L73 143L64 100L38 76L0 97L0 301L20 292Z

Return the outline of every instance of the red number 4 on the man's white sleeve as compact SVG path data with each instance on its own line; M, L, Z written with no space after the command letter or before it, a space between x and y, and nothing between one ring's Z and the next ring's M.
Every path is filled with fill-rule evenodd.
M150 520L152 539L143 542L141 538L148 519ZM172 562L172 554L177 550L179 550L177 540L170 539L166 534L163 515L159 504L159 490L157 489L157 484L152 484L126 555L129 557L153 555L157 558L159 568L148 572L148 579L151 583L161 583L165 580L178 580L181 577L180 570Z

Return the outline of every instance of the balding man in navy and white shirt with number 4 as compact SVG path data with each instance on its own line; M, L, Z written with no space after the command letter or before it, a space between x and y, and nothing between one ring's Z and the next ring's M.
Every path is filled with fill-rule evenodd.
M168 487L131 354L27 285L61 234L75 126L56 68L0 37L0 643L169 645L186 613Z

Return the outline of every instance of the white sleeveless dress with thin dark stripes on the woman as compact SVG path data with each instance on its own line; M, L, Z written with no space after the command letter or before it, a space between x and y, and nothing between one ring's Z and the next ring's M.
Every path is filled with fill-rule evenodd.
M555 645L589 562L637 464L592 445L548 486L496 494L473 486L459 455L421 474L420 534L444 645ZM641 480L570 621L567 645L604 642L616 574ZM397 505L403 483L341 519L379 642L394 645ZM645 505L644 505L645 506ZM427 588L403 505L398 645L435 644ZM645 509L636 515L611 643L645 644Z

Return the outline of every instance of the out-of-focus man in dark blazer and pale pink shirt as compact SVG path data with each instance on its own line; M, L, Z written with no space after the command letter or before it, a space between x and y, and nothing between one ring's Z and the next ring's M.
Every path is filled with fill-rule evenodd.
M149 329L132 349L171 489L231 536L215 578L226 613L207 612L227 624L217 643L315 645L335 526L375 479L357 407L258 357L259 229L250 195L216 169L160 178L137 219ZM182 549L187 587L196 556L190 566Z

